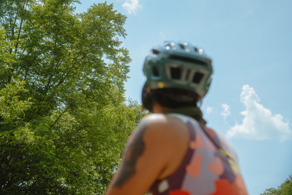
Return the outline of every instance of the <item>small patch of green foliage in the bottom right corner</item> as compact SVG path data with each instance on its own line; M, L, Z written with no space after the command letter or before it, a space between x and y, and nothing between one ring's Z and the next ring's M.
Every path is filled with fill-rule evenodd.
M292 174L278 188L266 189L260 195L292 195Z

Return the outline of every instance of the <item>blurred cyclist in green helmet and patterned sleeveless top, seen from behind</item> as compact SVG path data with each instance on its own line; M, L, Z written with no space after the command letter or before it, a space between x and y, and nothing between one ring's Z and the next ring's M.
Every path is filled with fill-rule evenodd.
M213 73L203 49L165 42L143 72L142 104L152 114L130 136L106 195L248 194L235 151L197 107Z

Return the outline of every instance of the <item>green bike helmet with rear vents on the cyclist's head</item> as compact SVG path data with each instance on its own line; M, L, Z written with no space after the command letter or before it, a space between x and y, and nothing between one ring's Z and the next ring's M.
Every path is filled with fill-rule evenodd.
M151 50L143 66L151 90L177 88L203 98L210 87L212 60L187 42L165 42Z

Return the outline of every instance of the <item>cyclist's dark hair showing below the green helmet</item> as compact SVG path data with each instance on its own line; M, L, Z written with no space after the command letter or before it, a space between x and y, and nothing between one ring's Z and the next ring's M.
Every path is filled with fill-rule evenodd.
M142 90L143 107L152 111L153 103L159 103L167 108L181 107L197 107L198 94L179 88L163 88L151 90L147 93L147 85L145 83Z

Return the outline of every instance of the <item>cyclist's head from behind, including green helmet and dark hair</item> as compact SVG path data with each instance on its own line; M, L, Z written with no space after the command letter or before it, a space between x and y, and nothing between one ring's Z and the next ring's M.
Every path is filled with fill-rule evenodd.
M142 104L152 110L153 103L167 108L194 107L210 87L212 61L187 42L165 42L151 50L143 66L147 80Z

